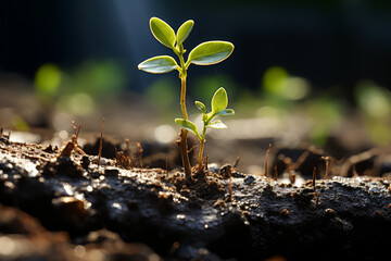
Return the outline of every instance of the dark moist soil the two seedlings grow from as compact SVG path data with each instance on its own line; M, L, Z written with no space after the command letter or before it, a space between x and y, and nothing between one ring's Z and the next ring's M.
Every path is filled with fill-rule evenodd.
M210 164L186 181L175 150L154 157L148 146L129 151L106 140L108 158L99 158L98 144L81 150L72 140L56 148L1 136L0 260L389 256L388 149L335 161L280 148L263 175Z

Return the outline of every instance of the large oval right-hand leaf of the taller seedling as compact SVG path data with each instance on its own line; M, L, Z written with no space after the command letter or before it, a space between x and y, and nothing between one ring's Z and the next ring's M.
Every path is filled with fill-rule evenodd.
M210 65L222 62L234 51L234 45L229 41L205 41L189 53L188 62L197 65Z

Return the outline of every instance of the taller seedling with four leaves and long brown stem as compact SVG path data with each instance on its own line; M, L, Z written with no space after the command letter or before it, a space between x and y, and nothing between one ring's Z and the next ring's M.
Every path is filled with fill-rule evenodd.
M234 45L228 41L205 41L192 49L185 62L184 41L188 38L192 30L194 22L192 20L186 21L175 34L174 29L164 21L152 17L150 20L150 28L152 35L163 46L172 49L178 57L179 63L169 55L159 55L150 58L138 65L139 70L153 74L169 73L174 70L179 72L181 83L180 91L180 108L182 112L182 120L188 120L186 108L186 77L187 70L190 64L211 65L222 62L227 59L234 51ZM180 149L181 160L187 179L191 178L191 165L187 147L188 128L180 132L180 140L178 146Z

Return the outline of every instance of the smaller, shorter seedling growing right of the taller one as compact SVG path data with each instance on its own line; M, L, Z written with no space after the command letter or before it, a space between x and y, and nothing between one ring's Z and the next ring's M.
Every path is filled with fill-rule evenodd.
M235 111L232 109L227 109L228 105L228 96L227 91L220 87L213 95L211 107L212 111L206 113L206 107L201 101L195 101L195 107L202 112L202 133L198 130L194 123L185 119L175 119L176 124L181 126L182 128L193 133L201 142L200 151L199 151L199 171L203 170L202 159L203 159L203 150L205 146L205 135L206 128L227 128L227 126L220 121L213 121L217 115L234 115Z

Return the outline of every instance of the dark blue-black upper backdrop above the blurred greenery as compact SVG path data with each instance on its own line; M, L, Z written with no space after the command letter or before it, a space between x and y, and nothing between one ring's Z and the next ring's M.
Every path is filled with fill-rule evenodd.
M224 71L258 88L263 72L278 65L317 88L340 86L342 94L364 78L390 87L390 11L386 0L2 0L0 71L33 79L43 63L72 67L110 58L128 73L127 88L140 91L155 77L137 64L171 52L149 30L149 18L159 16L175 30L194 20L188 49L211 39L235 44L229 60L192 66L191 75Z

